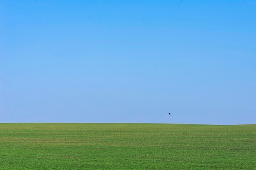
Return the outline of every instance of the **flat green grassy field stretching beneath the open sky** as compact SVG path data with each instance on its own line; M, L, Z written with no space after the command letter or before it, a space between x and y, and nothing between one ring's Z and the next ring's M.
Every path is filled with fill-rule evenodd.
M256 124L0 124L0 169L256 169Z

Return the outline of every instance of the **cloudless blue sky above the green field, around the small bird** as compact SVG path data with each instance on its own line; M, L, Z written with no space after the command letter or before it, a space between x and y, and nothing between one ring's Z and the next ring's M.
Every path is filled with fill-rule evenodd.
M256 1L2 0L0 122L255 124Z

